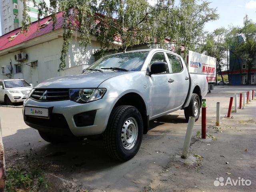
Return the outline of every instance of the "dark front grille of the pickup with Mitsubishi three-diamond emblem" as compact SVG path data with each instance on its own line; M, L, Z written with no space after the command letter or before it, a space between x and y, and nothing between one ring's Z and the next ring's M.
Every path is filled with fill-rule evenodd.
M69 89L36 89L31 98L40 102L69 100Z

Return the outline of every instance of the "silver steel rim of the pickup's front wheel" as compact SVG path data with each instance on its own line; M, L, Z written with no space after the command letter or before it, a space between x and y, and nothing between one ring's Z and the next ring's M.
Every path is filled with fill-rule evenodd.
M130 150L136 144L138 138L138 123L135 118L129 117L122 126L121 140L126 150Z

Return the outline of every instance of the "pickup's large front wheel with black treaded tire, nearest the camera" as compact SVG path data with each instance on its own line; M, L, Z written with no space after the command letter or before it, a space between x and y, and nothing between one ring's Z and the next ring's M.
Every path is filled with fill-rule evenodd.
M128 125L124 128L126 122L128 122ZM134 128L130 132L130 125L135 125L135 127L137 125L137 128ZM134 142L130 146L128 146L129 144L124 146L126 145L124 140L127 140L129 137L131 138L136 132L134 130L138 130L137 139L134 139ZM128 137L124 138L122 136L124 134L128 134ZM119 161L127 161L137 154L142 142L142 135L143 121L139 110L134 106L122 105L112 110L107 128L103 134L103 142L110 157ZM132 148L126 149L125 147Z

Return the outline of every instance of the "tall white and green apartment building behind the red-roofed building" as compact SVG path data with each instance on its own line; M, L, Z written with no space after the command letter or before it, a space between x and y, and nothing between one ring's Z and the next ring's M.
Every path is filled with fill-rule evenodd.
M36 0L40 2L40 0ZM32 1L28 1L31 21L37 20L38 9ZM0 0L0 17L2 35L21 27L23 2L21 0Z

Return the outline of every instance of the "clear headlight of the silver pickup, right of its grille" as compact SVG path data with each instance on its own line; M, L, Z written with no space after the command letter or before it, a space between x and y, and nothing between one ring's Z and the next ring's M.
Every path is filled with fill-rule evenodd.
M106 89L70 89L70 100L78 103L88 103L101 99L106 93Z

